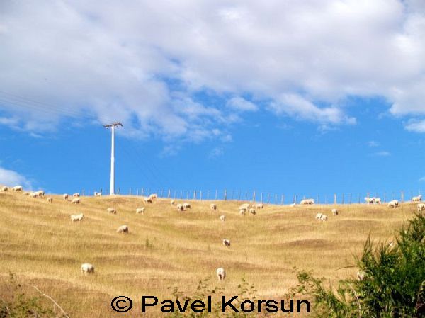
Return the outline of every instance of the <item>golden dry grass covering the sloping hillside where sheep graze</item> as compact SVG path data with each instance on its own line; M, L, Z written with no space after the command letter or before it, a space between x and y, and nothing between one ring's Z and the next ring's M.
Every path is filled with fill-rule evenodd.
M412 217L416 205L405 203L392 210L385 205L266 205L257 215L241 216L236 201L190 201L191 209L178 212L169 200L146 205L135 196L83 197L72 205L59 195L46 199L19 193L0 193L0 295L8 293L9 271L26 285L59 302L71 317L139 317L140 307L127 314L113 312L111 299L142 295L169 299L169 286L192 293L198 280L224 267L221 285L227 295L236 295L244 276L262 299L281 299L296 283L293 266L314 269L331 281L354 276L353 256L361 254L371 235L375 242L392 239ZM179 202L178 202L179 203ZM145 215L135 209L145 206ZM106 208L118 209L117 215ZM82 222L69 215L83 212ZM314 219L317 212L327 222ZM221 222L220 215L227 220ZM130 234L118 234L128 225ZM232 246L222 245L231 239ZM93 263L94 276L83 276L81 263ZM340 269L343 268L343 269ZM152 312L145 317L164 317ZM298 317L298 316L294 316Z

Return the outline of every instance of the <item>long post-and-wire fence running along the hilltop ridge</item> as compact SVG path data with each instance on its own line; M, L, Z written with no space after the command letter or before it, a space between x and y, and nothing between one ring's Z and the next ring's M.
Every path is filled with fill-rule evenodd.
M99 189L98 193L108 195L108 189ZM94 195L95 191L81 191L81 195ZM264 191L241 191L241 190L172 190L164 188L129 188L128 191L120 191L117 188L117 195L149 196L157 194L158 198L168 198L174 200L235 200L254 201L274 205L286 205L300 203L300 200L313 199L316 204L358 204L366 203L365 198L380 198L381 203L390 200L405 202L412 200L414 196L421 195L421 190L417 191L390 191L390 192L365 192L365 193L329 193L324 195L300 195L272 193Z

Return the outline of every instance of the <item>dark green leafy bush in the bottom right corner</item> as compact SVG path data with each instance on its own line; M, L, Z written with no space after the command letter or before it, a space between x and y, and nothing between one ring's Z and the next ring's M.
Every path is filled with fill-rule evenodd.
M368 238L363 255L356 259L363 279L340 280L332 288L311 271L299 271L292 295L310 295L316 317L425 317L416 310L424 293L424 237L425 217L415 215L408 227L398 232L394 246L373 246Z

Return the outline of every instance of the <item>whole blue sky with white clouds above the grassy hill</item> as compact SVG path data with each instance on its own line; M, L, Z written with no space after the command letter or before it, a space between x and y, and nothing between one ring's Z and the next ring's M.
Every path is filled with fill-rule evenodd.
M0 4L0 183L416 194L424 4L302 2Z

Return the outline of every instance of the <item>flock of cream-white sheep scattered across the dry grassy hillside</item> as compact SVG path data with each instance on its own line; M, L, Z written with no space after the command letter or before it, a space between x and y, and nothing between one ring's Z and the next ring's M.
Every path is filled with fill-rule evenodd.
M6 192L8 190L9 190L9 188L7 186L3 186L3 187L0 188L0 192ZM10 188L10 190L15 191L15 192L21 192L23 195L28 195L32 198L45 198L45 191L42 191L42 190L34 191L34 192L25 192L25 191L23 191L22 186L14 186L13 188ZM95 192L94 195L100 196L100 195L102 195L102 193ZM62 197L64 198L64 200L67 200L67 201L69 201L69 199L72 198L72 200L71 200L72 204L81 203L79 193L74 193L72 195L72 197L69 194L65 193L64 195L62 195ZM143 198L145 203L154 203L154 201L156 199L157 199L157 194L152 194L152 195L149 195L146 198ZM425 211L425 203L421 203L421 199L422 199L421 195L418 195L418 196L412 198L412 202L418 203L417 204L417 210L419 212ZM49 198L47 198L47 201L49 203L52 203L53 199L49 197ZM366 197L365 201L368 204L380 204L381 203L380 198L368 198L368 197ZM170 203L173 206L175 205L176 209L179 212L183 212L183 211L186 211L189 208L192 208L191 203L176 204L176 202L174 200L171 200ZM311 199L311 198L310 199L303 199L303 200L300 201L300 205L314 205L314 199ZM291 206L295 206L295 203L293 203ZM387 206L389 208L398 208L399 207L399 201L398 200L391 200L389 203L387 203ZM244 216L244 215L246 215L246 212L248 212L250 215L256 215L256 211L259 210L259 209L262 209L262 208L263 208L263 203L253 203L253 204L244 203L242 205L239 205L239 215ZM217 205L215 203L211 203L210 204L210 210L212 210L212 211L217 210ZM106 211L108 213L111 213L111 214L114 214L114 215L116 215L117 212L118 212L115 208L107 208ZM143 215L145 213L145 207L136 208L135 212L137 214ZM339 211L336 208L332 208L331 213L334 216L339 215ZM70 215L70 218L71 218L72 222L79 222L79 221L84 219L84 214L80 213L78 215ZM317 213L315 218L316 218L316 220L319 220L319 221L327 221L328 220L327 215L324 215L323 213ZM222 222L225 222L226 216L220 215L220 220ZM128 233L129 232L128 225L121 225L120 227L118 227L116 232L123 233L123 234ZM230 245L231 245L230 239L222 239L222 244L226 247L230 247ZM81 264L81 273L84 273L84 275L93 274L94 273L94 266L91 263ZM217 278L218 278L219 281L224 280L225 277L226 277L225 268L222 268L222 267L217 268L216 275L217 275Z

